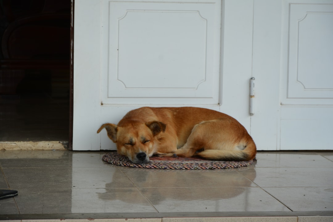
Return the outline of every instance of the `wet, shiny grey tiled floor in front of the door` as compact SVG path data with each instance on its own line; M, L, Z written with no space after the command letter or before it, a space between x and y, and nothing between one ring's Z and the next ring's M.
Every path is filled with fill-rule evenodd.
M0 188L19 193L0 220L333 221L332 151L261 151L221 170L121 167L106 152L0 150Z

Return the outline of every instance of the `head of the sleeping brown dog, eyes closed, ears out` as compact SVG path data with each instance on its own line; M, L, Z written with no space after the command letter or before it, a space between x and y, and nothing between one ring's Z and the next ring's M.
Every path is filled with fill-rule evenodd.
M149 157L156 150L160 133L166 130L166 124L158 121L143 123L135 120L125 121L119 125L105 123L97 133L103 128L107 130L109 138L117 144L119 154L127 156L133 163L141 164L149 162Z

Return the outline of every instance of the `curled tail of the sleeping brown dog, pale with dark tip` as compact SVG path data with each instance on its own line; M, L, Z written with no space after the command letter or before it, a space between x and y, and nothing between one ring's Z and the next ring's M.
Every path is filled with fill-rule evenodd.
M254 159L256 153L256 146L250 140L246 145L237 146L236 150L204 149L196 155L209 160L249 161Z

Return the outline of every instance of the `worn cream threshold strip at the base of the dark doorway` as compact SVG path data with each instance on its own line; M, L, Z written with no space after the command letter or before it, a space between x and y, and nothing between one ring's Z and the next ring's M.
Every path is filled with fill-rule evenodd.
M0 141L0 150L66 150L68 141Z

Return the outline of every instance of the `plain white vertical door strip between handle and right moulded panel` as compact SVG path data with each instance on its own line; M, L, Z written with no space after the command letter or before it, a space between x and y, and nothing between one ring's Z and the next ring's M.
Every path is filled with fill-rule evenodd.
M280 136L281 1L255 1L253 11L255 103L251 136L258 150L276 150Z

